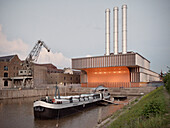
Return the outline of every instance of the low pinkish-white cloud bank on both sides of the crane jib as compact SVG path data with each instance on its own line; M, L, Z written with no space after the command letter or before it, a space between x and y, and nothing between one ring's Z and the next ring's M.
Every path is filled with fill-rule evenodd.
M24 60L31 50L31 46L23 42L22 39L9 41L7 36L2 32L0 25L0 56L17 54L21 60ZM62 53L47 52L45 48L42 48L38 63L53 63L59 68L64 68L70 67L71 60Z

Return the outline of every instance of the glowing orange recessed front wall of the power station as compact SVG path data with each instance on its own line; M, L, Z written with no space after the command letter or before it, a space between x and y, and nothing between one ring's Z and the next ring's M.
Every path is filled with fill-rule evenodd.
M105 85L107 87L129 86L130 71L127 67L106 67L106 68L88 68L84 69L87 73L88 84L83 87L96 87L97 85Z

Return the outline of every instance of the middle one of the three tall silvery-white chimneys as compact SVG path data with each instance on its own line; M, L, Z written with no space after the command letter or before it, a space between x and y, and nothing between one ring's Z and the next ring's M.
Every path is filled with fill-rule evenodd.
M119 8L118 7L114 7L113 8L113 46L114 46L114 54L117 55L118 54L118 11Z

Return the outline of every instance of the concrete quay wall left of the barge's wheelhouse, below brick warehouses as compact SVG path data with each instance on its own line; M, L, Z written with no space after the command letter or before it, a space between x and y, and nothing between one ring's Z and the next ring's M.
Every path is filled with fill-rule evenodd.
M89 88L68 88L60 87L60 95L70 95L70 94L81 94L89 93ZM41 89L4 89L0 90L0 99L10 99L10 98L25 98L25 97L36 97L36 96L54 96L55 88L41 88Z

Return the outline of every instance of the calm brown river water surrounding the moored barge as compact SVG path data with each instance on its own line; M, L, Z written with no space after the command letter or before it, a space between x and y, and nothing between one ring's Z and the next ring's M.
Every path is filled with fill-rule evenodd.
M33 101L21 98L0 100L0 128L93 128L123 105L95 106L59 120L35 120Z

